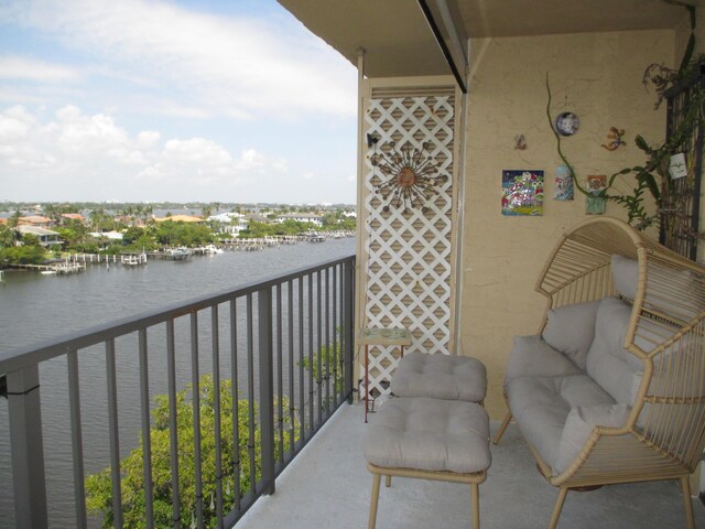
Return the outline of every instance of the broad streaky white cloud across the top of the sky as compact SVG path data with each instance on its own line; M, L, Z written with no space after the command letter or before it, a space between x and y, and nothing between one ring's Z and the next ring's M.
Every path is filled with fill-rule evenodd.
M352 66L289 18L265 23L145 0L10 0L2 13L108 63L117 77L187 95L194 108L236 119L355 115Z

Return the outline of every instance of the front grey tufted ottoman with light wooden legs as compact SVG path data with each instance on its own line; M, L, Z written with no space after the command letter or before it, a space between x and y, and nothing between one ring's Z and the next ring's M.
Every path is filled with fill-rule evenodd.
M369 529L377 521L380 477L416 477L470 485L473 528L479 529L479 484L491 463L489 419L475 402L430 398L387 401L370 421L364 449L373 474Z

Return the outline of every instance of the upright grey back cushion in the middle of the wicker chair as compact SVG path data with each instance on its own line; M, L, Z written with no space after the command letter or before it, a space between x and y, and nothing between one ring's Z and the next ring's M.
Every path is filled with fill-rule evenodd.
M595 339L587 352L587 374L617 402L631 406L641 385L639 363L627 361L623 348L631 307L617 298L599 302L595 317Z

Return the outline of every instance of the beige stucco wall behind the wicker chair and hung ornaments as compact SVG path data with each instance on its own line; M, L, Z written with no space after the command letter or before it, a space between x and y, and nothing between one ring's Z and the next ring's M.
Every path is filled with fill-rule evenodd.
M535 334L545 306L535 279L558 235L586 218L585 199L553 199L561 164L546 117L545 75L553 91L552 114L571 110L581 130L564 139L563 150L579 179L612 174L643 162L634 136L662 141L665 110L653 110L644 90L644 68L672 64L673 31L621 32L471 42L471 80L465 158L460 352L488 368L486 400L492 418L505 413L501 381L512 336ZM610 127L626 129L628 145L600 147ZM524 134L527 149L514 149ZM503 217L503 169L543 169L542 217ZM609 215L625 217L609 204ZM626 218L626 217L625 217Z

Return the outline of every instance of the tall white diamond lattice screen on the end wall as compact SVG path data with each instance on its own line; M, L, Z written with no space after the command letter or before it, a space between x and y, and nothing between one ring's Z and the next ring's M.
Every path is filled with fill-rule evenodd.
M413 335L406 350L448 353L453 326L454 126L455 89L386 89L372 91L366 111L367 132L378 138L364 174L366 271L365 322L369 327L404 326ZM410 143L432 156L447 180L426 203L426 210L391 206L383 212L375 185L387 181L371 164L375 149L389 152L390 142ZM386 393L399 357L398 348L371 347L370 391ZM362 359L361 359L362 360Z

